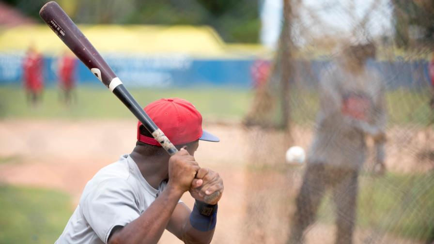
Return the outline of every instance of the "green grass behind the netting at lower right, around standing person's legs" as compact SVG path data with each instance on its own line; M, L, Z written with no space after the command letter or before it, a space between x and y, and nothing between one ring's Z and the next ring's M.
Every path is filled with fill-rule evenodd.
M396 174L373 178L361 175L357 198L357 226L380 236L426 241L434 232L433 173ZM333 224L334 204L330 195L319 210L321 220ZM431 237L432 238L432 237Z

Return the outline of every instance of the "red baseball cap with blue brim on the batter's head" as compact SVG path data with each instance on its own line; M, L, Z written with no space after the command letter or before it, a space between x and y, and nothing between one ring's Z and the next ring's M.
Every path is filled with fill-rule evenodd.
M173 145L186 144L197 139L205 141L220 141L218 137L202 130L202 115L190 102L181 98L162 98L150 103L144 108L155 124L169 138ZM140 134L137 124L137 140L161 146L153 137Z

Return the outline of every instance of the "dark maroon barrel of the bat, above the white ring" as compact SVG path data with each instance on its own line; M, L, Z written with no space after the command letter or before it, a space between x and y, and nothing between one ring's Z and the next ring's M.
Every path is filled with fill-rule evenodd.
M47 2L39 15L78 59L109 87L111 80L116 77L113 70L59 4L55 1Z

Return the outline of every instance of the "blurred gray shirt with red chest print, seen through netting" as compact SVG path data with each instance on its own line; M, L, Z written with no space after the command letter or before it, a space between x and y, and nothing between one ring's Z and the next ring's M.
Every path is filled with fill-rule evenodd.
M321 77L320 111L308 161L358 169L365 160L365 135L385 130L384 83L373 69L355 76L339 63ZM345 113L351 106L358 107L358 115Z

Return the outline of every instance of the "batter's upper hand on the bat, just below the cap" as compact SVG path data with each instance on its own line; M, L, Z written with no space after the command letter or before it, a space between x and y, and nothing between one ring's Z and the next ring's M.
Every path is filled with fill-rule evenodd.
M199 169L194 157L182 148L169 159L168 187L174 187L182 193L188 191Z

